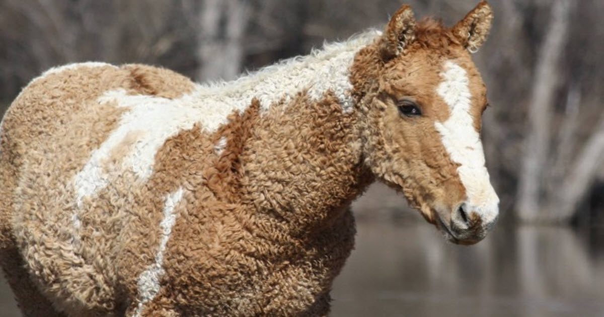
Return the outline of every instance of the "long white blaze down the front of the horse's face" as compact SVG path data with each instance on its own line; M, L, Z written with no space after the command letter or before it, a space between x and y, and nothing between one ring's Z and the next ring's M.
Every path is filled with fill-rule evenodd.
M467 72L450 60L444 66L445 71L440 74L443 82L437 93L449 105L451 117L434 125L452 161L460 164L457 172L466 188L469 211L477 213L483 223L489 223L499 212L499 198L490 184L489 172L484 166L483 145L474 129Z

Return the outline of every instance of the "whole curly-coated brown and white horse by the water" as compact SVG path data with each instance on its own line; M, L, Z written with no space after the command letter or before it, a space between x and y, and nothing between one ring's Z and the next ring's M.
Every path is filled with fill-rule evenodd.
M79 63L34 79L1 125L0 259L26 315L327 315L374 180L447 239L498 214L470 53L403 6L367 31L233 82Z

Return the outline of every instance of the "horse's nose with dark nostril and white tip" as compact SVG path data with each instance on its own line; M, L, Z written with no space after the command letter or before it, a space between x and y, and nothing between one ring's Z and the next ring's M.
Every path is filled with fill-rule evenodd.
M484 239L495 225L499 208L474 206L463 202L451 213L451 233L462 244L473 244Z

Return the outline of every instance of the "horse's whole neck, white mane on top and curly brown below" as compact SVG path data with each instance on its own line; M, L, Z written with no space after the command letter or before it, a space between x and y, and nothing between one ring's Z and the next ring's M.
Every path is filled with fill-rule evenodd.
M247 94L241 88L249 88L260 104L260 114L249 116L255 118L255 133L240 156L244 200L295 229L321 226L338 216L371 181L362 164L360 114L349 78L364 45L335 45L342 47L219 87L232 96Z

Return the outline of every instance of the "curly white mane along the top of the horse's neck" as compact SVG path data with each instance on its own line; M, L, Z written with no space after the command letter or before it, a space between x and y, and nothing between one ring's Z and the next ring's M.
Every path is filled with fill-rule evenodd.
M202 86L199 93L228 103L243 103L243 107L255 97L263 109L268 109L280 100L291 100L304 89L312 100L320 100L331 90L344 111L349 112L353 107L350 66L355 54L379 35L380 31L370 30L345 42L326 43L323 50L312 51L308 56L284 60L232 82Z

